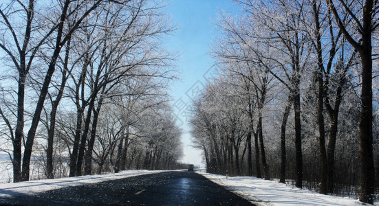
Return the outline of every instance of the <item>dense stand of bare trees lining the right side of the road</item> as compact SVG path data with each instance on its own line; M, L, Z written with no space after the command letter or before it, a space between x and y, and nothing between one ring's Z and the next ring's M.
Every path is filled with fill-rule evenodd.
M373 203L378 1L235 0L210 45L220 75L190 125L208 172ZM376 168L376 170L375 170Z

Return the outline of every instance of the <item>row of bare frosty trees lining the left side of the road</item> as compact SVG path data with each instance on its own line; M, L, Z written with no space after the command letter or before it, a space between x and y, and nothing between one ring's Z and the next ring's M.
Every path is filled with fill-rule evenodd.
M1 151L13 181L170 168L182 155L162 1L0 4Z

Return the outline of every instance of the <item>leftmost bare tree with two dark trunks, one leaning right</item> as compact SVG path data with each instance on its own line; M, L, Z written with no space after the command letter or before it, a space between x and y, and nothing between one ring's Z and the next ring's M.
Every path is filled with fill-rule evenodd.
M61 5L56 5L54 12L57 12L52 16L56 16L56 19L50 21L43 21L42 27L36 23L36 3L34 1L29 1L28 5L24 5L20 1L19 7L10 3L10 6L1 10L0 14L3 19L2 24L8 30L8 34L12 36L14 41L13 45L2 43L1 49L12 59L14 66L19 72L19 92L17 93L17 126L14 133L14 181L28 181L29 170L30 170L30 157L32 154L32 146L34 143L34 137L36 135L36 130L41 118L41 111L43 110L43 104L47 95L47 90L49 88L52 75L55 71L56 60L61 52L63 46L67 43L70 36L77 30L82 21L89 15L89 13L97 8L102 1L94 1L88 3L86 1L64 1ZM84 6L86 5L86 6ZM51 5L49 5L51 6ZM19 10L18 8L21 8ZM10 15L16 14L13 11L25 12L27 19L25 20L25 32L14 30L14 25L10 18ZM72 27L66 30L65 21L69 16L77 15L76 21L72 24ZM41 17L41 16L39 16ZM43 18L41 18L43 19ZM18 19L16 19L18 21ZM47 23L50 22L50 23ZM34 27L36 30L34 30ZM40 35L34 35L41 33ZM39 93L39 98L36 103L36 108L30 125L28 135L26 137L24 146L23 163L21 170L21 140L23 139L23 127L24 127L24 100L25 100L25 79L28 76L30 68L33 66L34 58L36 57L36 52L39 51L40 47L45 43L47 38L50 38L54 34L54 49L50 52L50 61L48 63L48 68L45 71L46 76L43 80L41 87L41 92ZM21 39L23 43L21 46ZM13 52L12 47L15 48ZM17 52L16 52L17 51ZM17 55L16 55L17 54ZM17 60L19 56L20 60Z

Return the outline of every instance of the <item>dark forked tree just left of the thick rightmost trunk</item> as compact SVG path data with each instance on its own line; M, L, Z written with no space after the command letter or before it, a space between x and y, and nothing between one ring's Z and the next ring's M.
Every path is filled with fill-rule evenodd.
M318 82L318 128L321 159L321 185L320 192L333 193L334 187L334 152L336 148L336 137L338 132L338 113L343 100L343 89L347 82L347 72L354 62L356 51L345 52L345 41L340 30L336 31L332 21L332 13L323 1L313 1L312 10L314 16L314 36L311 43L317 56L317 82ZM321 12L327 10L327 12ZM343 21L349 21L345 18ZM321 41L321 36L325 36ZM327 36L327 38L326 38ZM327 56L325 57L325 54ZM345 60L345 56L350 56ZM339 56L336 66L334 59ZM346 62L345 62L346 61ZM334 71L334 73L332 73ZM332 76L338 76L336 82L332 82ZM325 80L324 80L325 79ZM332 91L336 84L336 94ZM329 115L329 142L325 148L325 120L324 107Z

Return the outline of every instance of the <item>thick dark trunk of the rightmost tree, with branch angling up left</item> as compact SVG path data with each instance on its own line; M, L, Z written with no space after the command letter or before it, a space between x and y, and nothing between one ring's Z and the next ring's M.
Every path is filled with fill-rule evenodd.
M358 28L361 38L359 43L346 30L345 25L340 20L334 3L327 0L330 10L332 10L336 23L343 32L349 43L358 50L360 61L362 63L362 91L360 94L361 111L359 118L360 130L360 159L361 164L361 181L359 201L373 204L374 186L375 186L375 168L373 164L373 139L372 139L372 45L371 35L373 35L373 14L378 10L373 0L366 0L362 5L362 23ZM375 6L375 8L374 8ZM358 19L354 14L349 13L353 18Z

